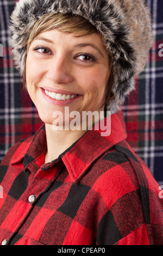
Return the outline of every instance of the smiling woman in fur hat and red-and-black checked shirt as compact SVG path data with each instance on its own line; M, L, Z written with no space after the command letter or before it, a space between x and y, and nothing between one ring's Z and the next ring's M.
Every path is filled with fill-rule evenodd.
M163 245L159 185L119 110L152 46L143 1L20 0L10 29L45 125L1 163L2 245Z

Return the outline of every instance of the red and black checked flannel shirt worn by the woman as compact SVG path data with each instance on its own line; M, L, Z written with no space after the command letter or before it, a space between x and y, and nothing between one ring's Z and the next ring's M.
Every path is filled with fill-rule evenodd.
M110 136L100 132L46 164L45 125L10 148L0 169L0 243L163 245L163 196L126 142L122 112L111 115Z

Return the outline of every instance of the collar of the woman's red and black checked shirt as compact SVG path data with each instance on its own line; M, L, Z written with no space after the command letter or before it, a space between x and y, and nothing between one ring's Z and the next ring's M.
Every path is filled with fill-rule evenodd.
M106 124L110 129L107 127L107 130L104 131ZM77 182L79 177L89 169L92 162L96 161L106 150L109 150L115 144L126 138L127 132L124 123L124 115L122 111L118 111L115 114L105 117L62 153L57 160L48 164L43 164L41 169L46 170L49 167L52 168L52 166L60 159L64 162L72 181ZM32 141L30 141L29 138L27 141L25 140L20 144L16 154L11 159L11 164L23 160L24 169L27 169L28 164L39 157L43 151L45 151L46 147L45 124L43 124L33 137Z

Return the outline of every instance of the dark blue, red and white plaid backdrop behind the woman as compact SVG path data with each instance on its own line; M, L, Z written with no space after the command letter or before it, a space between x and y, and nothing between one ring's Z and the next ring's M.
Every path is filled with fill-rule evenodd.
M146 2L152 13L154 44L149 52L145 71L136 78L136 90L130 94L122 110L127 125L128 143L162 185L163 1ZM33 135L42 124L35 106L23 91L20 75L10 56L8 26L15 3L14 0L0 0L0 53L3 55L0 57L0 161L11 145Z

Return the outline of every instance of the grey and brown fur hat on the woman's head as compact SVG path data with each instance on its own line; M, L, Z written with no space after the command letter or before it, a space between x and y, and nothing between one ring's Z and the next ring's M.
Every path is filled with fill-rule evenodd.
M112 58L115 95L106 107L116 112L145 69L153 44L151 14L143 0L20 0L11 15L9 44L23 73L27 41L35 22L46 13L72 13L88 20L105 41Z

